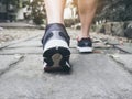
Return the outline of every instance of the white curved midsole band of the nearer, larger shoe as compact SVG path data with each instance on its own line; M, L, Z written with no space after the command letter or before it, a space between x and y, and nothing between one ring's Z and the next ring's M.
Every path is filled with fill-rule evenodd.
M69 50L67 43L63 40L51 40L48 41L46 44L45 44L45 47L44 47L44 52L50 50L50 48L53 48L53 47L65 47L67 50Z

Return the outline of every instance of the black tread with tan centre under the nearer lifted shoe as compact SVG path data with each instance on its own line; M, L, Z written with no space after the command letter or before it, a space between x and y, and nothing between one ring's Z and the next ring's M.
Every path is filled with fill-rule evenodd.
M69 65L69 56L70 52L64 47L58 47L58 50L53 48L44 55L46 56L44 62L46 66L44 66L45 72L56 72L63 70L68 72L70 69Z

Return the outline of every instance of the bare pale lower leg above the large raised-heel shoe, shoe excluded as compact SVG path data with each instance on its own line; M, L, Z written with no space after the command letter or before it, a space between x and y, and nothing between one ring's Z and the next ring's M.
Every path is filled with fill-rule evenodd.
M44 0L47 14L47 23L64 24L64 8L66 0Z

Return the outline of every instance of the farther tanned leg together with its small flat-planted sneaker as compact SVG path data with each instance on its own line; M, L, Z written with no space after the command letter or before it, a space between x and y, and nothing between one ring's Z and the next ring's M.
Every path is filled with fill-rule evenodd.
M81 22L81 32L78 36L79 52L92 52L92 42L89 30L96 13L98 0L78 0L79 18Z

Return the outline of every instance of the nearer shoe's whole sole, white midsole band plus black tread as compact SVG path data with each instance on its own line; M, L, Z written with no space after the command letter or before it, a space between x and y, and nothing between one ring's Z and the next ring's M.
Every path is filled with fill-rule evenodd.
M46 45L43 54L44 62L47 63L44 64L45 72L68 72L70 69L70 51L67 44L64 43L65 42L62 42L62 40L57 40L48 42Z

